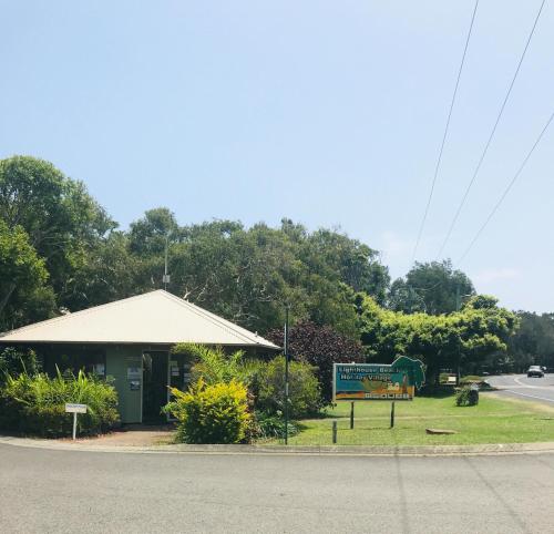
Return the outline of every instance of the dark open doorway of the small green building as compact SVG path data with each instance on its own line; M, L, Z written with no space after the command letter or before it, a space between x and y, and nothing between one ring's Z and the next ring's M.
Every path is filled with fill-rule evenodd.
M167 352L143 352L142 422L160 424L167 421L162 407L167 404Z

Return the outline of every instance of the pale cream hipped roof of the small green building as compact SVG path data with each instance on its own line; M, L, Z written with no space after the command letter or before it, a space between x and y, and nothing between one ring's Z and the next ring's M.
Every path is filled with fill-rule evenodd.
M191 342L278 349L245 328L162 289L0 335L0 343Z

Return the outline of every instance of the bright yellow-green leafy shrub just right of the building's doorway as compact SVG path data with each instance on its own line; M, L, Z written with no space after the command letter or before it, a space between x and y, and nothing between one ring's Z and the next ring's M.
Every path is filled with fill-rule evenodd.
M184 443L240 443L252 423L246 387L235 380L207 386L201 378L187 392L172 388L175 400L164 411L177 423Z

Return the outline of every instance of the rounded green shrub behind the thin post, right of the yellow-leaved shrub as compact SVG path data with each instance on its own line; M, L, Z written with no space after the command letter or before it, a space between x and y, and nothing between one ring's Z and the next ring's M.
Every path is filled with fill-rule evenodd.
M279 356L264 363L258 371L256 409L268 414L285 411L285 358ZM289 363L289 415L300 419L316 415L324 401L315 369L308 363Z

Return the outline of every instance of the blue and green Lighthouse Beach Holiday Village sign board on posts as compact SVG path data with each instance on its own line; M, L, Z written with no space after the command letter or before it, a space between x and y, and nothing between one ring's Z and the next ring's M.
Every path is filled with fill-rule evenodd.
M334 401L412 400L425 382L423 363L407 356L392 363L335 363Z

